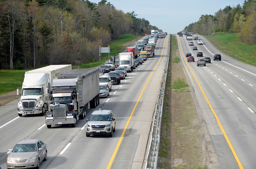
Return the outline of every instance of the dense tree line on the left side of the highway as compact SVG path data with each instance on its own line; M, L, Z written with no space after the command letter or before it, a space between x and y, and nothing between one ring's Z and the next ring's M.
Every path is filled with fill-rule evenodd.
M99 44L108 46L121 34L159 30L136 16L106 0L2 0L0 69L98 60Z

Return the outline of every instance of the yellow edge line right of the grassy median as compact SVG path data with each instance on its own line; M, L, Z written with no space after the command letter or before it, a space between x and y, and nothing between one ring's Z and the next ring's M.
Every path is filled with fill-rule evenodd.
M180 37L178 36L178 38L179 38L179 42L180 42L180 46L181 46ZM229 138L228 138L228 136L227 136L227 134L226 134L226 132L225 132L225 130L224 130L224 128L223 128L221 122L219 121L218 116L216 115L215 111L213 110L212 105L210 104L208 98L207 98L206 95L204 94L204 91L203 91L203 89L201 88L201 85L199 84L199 82L198 82L198 80L197 80L197 78L196 78L194 72L193 72L193 71L191 70L191 68L189 67L189 65L188 65L188 63L187 63L187 61L186 61L186 59L185 59L185 57L184 57L184 55L183 55L182 48L181 48L181 53L182 53L183 59L185 60L185 62L186 62L186 64L187 64L187 66L188 66L190 72L193 74L194 78L196 79L197 84L198 84L200 90L202 91L204 98L206 99L208 105L210 106L210 108L211 108L211 110L212 110L212 113L213 113L214 117L216 118L216 120L217 120L217 122L218 122L218 125L219 125L219 127L221 128L221 131L222 131L224 137L226 138L227 143L228 143L228 145L229 145L229 147L230 147L230 149L231 149L231 151L232 151L234 157L236 158L236 161L237 161L237 164L238 164L239 168L243 169L243 166L242 166L242 164L241 164L241 162L240 162L240 160L239 160L239 158L238 158L236 152L234 151L234 148L233 148L232 144L230 143L230 140L229 140Z

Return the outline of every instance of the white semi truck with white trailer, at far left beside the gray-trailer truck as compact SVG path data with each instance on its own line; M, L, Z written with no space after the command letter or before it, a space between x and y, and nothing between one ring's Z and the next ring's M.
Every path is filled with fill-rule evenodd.
M48 109L52 81L55 76L72 70L71 64L49 65L43 68L25 72L22 83L22 94L18 100L18 116L23 114L44 115ZM17 89L19 95L19 89Z

